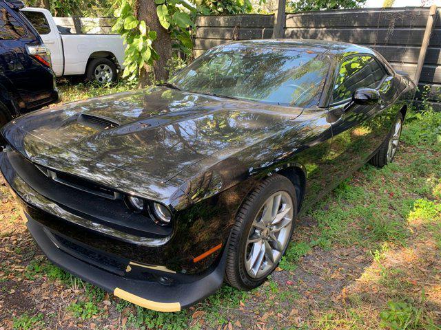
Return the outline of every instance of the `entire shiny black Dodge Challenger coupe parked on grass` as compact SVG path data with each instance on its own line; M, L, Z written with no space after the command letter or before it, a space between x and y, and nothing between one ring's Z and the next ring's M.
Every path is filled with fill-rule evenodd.
M233 42L164 85L10 122L0 169L53 263L179 311L262 284L299 212L393 160L414 91L367 47Z

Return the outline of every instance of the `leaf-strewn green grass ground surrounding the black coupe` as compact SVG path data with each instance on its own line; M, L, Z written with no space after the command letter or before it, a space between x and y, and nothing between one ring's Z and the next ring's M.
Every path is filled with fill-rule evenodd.
M133 86L63 81L59 87L67 102ZM409 115L396 162L362 167L300 218L280 268L262 287L240 292L224 285L173 314L127 303L49 263L0 185L0 324L54 329L60 319L63 327L95 329L441 329L440 125L441 113ZM39 287L49 293L32 296ZM40 312L44 302L50 303Z

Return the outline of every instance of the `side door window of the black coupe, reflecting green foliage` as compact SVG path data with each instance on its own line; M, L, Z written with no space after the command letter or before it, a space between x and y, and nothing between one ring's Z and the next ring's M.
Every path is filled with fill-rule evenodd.
M384 69L371 56L346 58L340 65L334 85L333 102L350 98L353 91L360 87L378 87L385 74Z

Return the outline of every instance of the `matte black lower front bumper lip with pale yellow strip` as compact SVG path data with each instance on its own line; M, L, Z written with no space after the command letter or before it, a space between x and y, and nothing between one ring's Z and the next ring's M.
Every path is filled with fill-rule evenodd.
M174 274L175 281L169 285L167 277L172 277L170 273L154 270L150 272L150 275L152 275L150 281L134 280L124 275L118 276L76 258L74 256L76 252L59 245L56 236L48 228L32 220L27 212L24 212L23 216L27 221L28 230L52 263L84 281L141 307L155 311L180 311L213 294L223 283L225 252L217 267L212 272L196 279L196 281L186 281L185 275ZM136 266L135 263L130 263L130 261L127 262L125 273L127 271L132 272L133 268L141 268L134 271L143 273L142 266ZM152 278L156 278L156 281L152 281ZM181 278L181 281L176 281L178 278Z

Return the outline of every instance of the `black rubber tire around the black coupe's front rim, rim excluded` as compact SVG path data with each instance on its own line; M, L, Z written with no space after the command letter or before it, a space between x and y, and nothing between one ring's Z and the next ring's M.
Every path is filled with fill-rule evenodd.
M289 194L289 197L291 197L293 217L288 242L291 240L298 205L296 189L287 177L278 174L271 175L271 177L262 181L251 195L245 199L243 206L241 206L236 215L236 222L232 228L229 243L227 245L227 265L225 268L225 281L227 281L229 285L232 285L232 287L243 290L254 289L264 283L267 276L271 274L278 265L277 262L271 272L262 278L252 278L247 274L247 270L245 269L245 248L247 245L247 236L251 230L252 223L267 198L278 191L285 191ZM287 243L283 249L282 255L285 254L288 245L289 244Z

